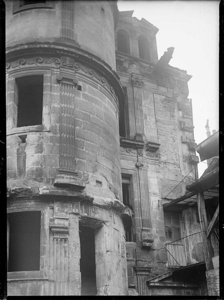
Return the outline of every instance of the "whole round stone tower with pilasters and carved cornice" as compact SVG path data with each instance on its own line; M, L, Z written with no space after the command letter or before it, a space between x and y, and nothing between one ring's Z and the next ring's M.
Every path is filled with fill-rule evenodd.
M6 11L8 294L125 295L116 2Z

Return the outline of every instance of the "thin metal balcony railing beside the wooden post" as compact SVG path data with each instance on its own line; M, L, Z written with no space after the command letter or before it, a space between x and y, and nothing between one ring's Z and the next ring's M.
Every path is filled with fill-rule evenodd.
M181 267L204 261L202 232L167 242L165 250L170 267Z

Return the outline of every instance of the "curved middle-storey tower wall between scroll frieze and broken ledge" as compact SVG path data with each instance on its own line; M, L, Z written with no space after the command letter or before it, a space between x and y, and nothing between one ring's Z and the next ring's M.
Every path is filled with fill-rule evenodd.
M63 87L65 90L61 91L60 81L57 79L60 74L63 76L65 74L72 80L75 78L72 69L65 68L62 64L66 57L58 59L58 61L61 59L61 65L58 63L57 67L54 66L54 59L49 63L50 57L40 56L40 59L37 59L37 56L30 56L23 65L11 61L9 67L7 80L9 187L24 186L24 182L30 182L31 179L33 186L54 184L57 172L62 167L61 161L67 155L62 154L64 147L62 136L69 134L72 142L71 139L68 139L68 142L75 155L68 161L68 167L75 170L77 176L85 181L86 191L91 195L121 199L116 96L108 90L105 79L103 80L106 84L100 81L101 84L96 86L92 76L86 75L88 68L84 66L80 66L80 72L77 71L75 76L81 90L73 85L66 85ZM31 66L32 61L35 61L35 68ZM18 76L37 73L44 73L43 124L17 127L15 80ZM94 74L99 78L97 73ZM72 88L72 93L69 88ZM62 102L64 92L70 93L73 101L72 111L68 114L63 112L65 110L62 111L63 107L69 109L70 105ZM73 123L66 124L67 119L66 116L62 119L62 112L73 118ZM69 130L66 126L73 126L74 131L63 133L62 130ZM25 142L20 138L24 134L27 135ZM62 155L64 156L61 157Z

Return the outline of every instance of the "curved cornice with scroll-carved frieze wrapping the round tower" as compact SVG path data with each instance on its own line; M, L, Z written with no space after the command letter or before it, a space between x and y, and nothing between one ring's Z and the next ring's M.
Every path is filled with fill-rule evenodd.
M75 72L82 70L86 76L93 77L111 94L111 99L117 107L118 98L124 99L119 76L111 66L78 46L62 41L31 41L7 47L6 52L6 67L9 71L16 67L27 67L29 64L38 66L54 64L56 67L73 69ZM35 56L35 59L32 56Z

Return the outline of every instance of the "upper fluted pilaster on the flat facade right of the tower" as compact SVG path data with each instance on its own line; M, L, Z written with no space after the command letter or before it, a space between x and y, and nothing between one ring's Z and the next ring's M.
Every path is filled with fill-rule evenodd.
M135 107L135 121L136 121L136 140L143 140L144 136L144 123L142 111L142 79L131 76L133 87L134 107Z

